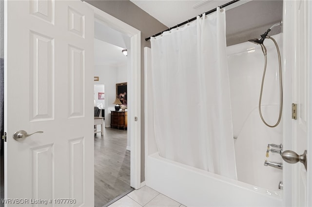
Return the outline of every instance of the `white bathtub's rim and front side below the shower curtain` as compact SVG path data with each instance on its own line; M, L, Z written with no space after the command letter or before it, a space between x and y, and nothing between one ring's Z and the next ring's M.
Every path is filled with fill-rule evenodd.
M282 206L282 191L209 173L162 158L158 153L146 157L145 183L188 207Z

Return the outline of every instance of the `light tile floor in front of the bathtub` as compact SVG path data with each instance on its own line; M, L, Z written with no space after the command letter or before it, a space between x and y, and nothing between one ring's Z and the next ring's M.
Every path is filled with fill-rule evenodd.
M120 198L109 207L185 207L175 200L144 186Z

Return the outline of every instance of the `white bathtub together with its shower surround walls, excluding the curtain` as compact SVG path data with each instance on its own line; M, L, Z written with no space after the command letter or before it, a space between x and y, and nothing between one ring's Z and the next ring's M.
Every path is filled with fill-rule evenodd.
M278 38L278 42L281 42L281 39ZM254 47L256 50L254 54L259 55L258 52L259 50L261 52L261 48L256 48L255 45L250 46L248 44L243 45L243 47L239 46L238 48L231 46L228 55L234 55L233 59L235 60L240 56L241 52L247 52L245 47ZM272 49L269 43L267 49L268 52ZM249 100L246 100L248 107L239 104L244 102L239 101L241 99L241 97L239 97L239 87L256 87L254 85L244 86L237 84L241 82L239 78L237 79L237 75L246 74L246 71L238 72L239 69L229 67L231 104L232 109L236 110L233 114L233 121L235 122L235 124L233 123L233 128L234 136L237 137L237 139L234 140L234 147L238 180L206 172L159 156L154 137L154 101L152 97L152 78L150 74L150 50L149 48L144 49L145 184L184 206L189 207L283 206L283 191L277 189L278 182L282 180L282 171L263 166L266 158L267 144L280 144L282 140L282 123L280 124L280 128L274 130L267 129L263 126L261 120L259 121L257 112L258 93L255 93L254 97L250 98L251 100L255 99L254 102L251 103ZM246 57L242 56L242 58ZM256 59L259 59L257 63L259 67L258 72L261 72L263 71L263 64L261 64L263 59ZM270 67L271 66L268 65L268 68ZM248 74L252 75L253 72ZM255 73L255 76L258 76L258 74ZM260 77L262 77L262 75L260 75ZM255 83L253 78L247 78L249 78L247 84ZM232 89L234 89L234 91L232 91ZM234 93L233 97L232 93ZM250 91L250 93L253 94L254 92ZM266 100L266 97L271 99L272 94L267 93L263 100ZM278 104L276 104L278 100L276 102L276 100L273 99L273 103L266 103L266 101L263 103L263 113L265 117L269 119L269 121L274 121L276 117L274 111L276 107L278 107ZM240 110L244 116L240 116ZM268 117L268 114L272 115L272 117ZM253 131L255 129L257 130L256 132ZM280 156L277 154L270 154L269 158L268 160L271 161L280 161Z

